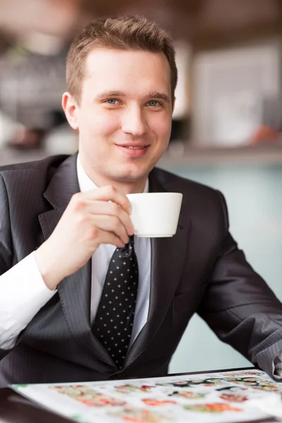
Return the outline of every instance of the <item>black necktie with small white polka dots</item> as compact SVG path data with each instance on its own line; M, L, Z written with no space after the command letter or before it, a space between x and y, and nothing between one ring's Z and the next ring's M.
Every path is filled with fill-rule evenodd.
M124 248L116 248L92 326L94 336L108 351L118 369L128 350L138 289L138 264L134 236Z

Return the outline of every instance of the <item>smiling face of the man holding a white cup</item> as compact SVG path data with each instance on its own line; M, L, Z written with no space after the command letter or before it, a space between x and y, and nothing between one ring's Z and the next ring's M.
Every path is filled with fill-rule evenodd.
M79 130L80 157L90 178L97 185L142 185L171 134L171 71L166 56L93 49L85 63L80 104L73 104L64 109Z

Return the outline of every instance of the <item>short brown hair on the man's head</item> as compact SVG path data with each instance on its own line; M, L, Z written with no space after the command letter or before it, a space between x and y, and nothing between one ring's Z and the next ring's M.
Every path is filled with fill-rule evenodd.
M168 33L143 16L98 18L86 25L71 44L66 61L68 92L80 102L85 59L94 47L164 53L171 68L172 101L177 83L175 51Z

